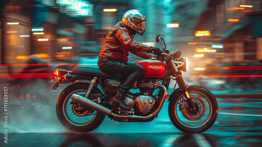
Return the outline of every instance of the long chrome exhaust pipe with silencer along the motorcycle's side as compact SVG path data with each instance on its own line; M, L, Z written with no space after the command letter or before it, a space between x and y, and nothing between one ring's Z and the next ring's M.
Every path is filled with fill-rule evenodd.
M95 111L98 111L100 113L103 113L107 116L112 116L112 117L115 117L115 118L123 118L123 119L141 119L141 120L145 120L145 119L150 119L154 116L156 116L156 114L158 114L165 102L165 99L166 99L166 96L167 96L167 89L165 86L163 85L158 85L158 84L155 84L156 87L158 88L162 88L164 90L164 95L163 95L163 98L160 102L160 107L157 108L156 111L154 111L153 113L149 114L148 116L134 116L134 115L119 115L119 114L116 114L116 113L113 113L111 109L103 106L103 105L100 105L94 101L91 101L90 99L88 98L85 98L81 95L77 95L77 94L73 94L71 96L71 99L76 102L76 103L79 103L81 105L84 105L86 107L89 107L90 109L93 109Z

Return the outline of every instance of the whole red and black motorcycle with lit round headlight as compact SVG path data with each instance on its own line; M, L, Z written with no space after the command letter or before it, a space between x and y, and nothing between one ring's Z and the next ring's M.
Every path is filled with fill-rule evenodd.
M157 35L156 42L160 40L165 44ZM217 101L203 85L185 84L182 75L188 70L189 61L187 57L180 57L181 54L180 50L170 54L165 44L162 54L156 58L135 62L144 67L145 73L133 83L132 92L129 90L124 96L131 111L109 104L125 81L121 82L121 75L110 75L100 69L83 66L76 66L72 71L55 70L57 80L52 89L56 90L61 83L73 83L57 99L56 113L60 123L71 131L91 132L99 127L105 116L118 122L152 121L162 109L172 79L179 87L175 89L175 85L168 98L171 122L182 132L204 132L217 118Z

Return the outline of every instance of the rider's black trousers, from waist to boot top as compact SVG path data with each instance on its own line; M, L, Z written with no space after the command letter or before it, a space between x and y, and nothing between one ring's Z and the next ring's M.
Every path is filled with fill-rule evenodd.
M133 83L138 80L144 74L144 67L139 64L133 64L122 61L100 61L97 62L99 69L112 74L117 75L119 78L127 77L125 82L122 84L124 90L129 90Z

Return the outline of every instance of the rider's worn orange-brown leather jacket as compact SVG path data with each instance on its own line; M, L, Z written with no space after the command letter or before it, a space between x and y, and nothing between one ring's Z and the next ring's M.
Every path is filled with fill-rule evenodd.
M150 46L136 42L133 38L132 31L122 22L118 22L106 35L99 55L110 60L123 62L128 61L128 52L144 59L154 57L153 54L148 54Z

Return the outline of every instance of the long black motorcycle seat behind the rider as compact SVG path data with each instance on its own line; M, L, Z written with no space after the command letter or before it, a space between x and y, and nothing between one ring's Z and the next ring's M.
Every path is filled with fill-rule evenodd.
M72 72L76 72L84 75L99 76L99 77L111 77L111 78L114 77L113 75L107 74L101 69L97 69L94 67L75 66Z

